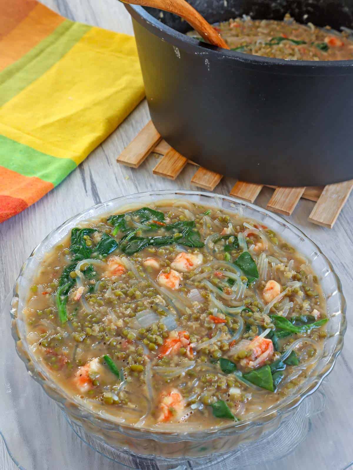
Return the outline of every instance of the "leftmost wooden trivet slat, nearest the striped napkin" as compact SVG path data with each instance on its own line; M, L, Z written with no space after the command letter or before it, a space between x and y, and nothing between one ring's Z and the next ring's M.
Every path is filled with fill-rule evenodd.
M135 139L130 142L126 149L121 152L117 161L124 165L138 168L160 140L160 133L154 127L152 121L150 121L136 135Z

